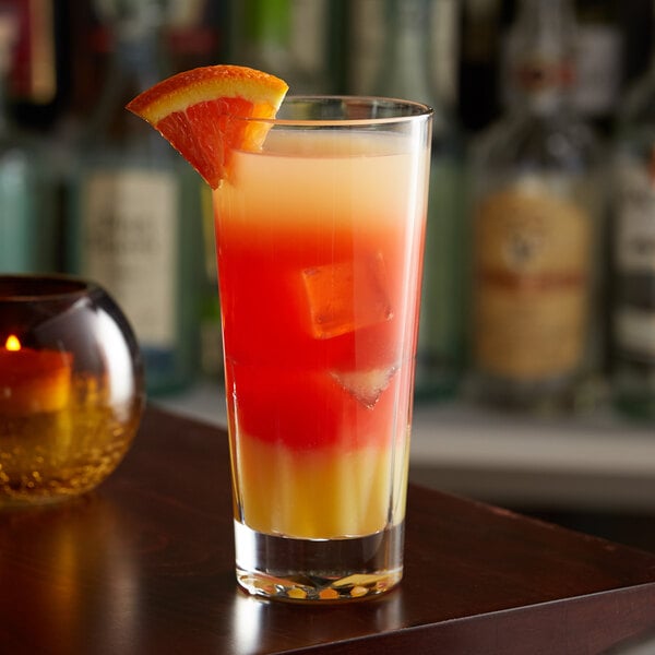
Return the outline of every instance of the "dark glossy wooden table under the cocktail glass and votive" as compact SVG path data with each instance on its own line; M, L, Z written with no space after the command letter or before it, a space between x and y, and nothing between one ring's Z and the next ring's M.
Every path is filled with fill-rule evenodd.
M237 590L223 430L150 408L94 493L0 512L0 653L600 653L655 626L655 556L419 487L396 591Z

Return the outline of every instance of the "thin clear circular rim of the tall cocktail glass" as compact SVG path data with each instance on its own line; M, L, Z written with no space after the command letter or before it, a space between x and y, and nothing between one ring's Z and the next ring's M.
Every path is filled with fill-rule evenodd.
M394 106L401 108L405 108L408 110L406 114L402 114L398 111L397 115L392 116L369 116L366 118L349 118L347 116L343 117L329 117L329 118L279 118L278 116L274 118L255 118L248 117L243 120L249 122L262 122L269 124L271 127L274 126L295 126L295 127L356 127L356 126L379 126L379 124L393 124L393 123L403 123L403 122L412 122L419 119L429 118L434 114L434 110L429 105L425 103L419 103L416 100L407 100L404 98L396 98L392 96L376 96L376 95L341 95L341 94L298 94L298 95L288 95L282 102L282 105L278 109L279 111L284 111L285 107L288 105L295 104L299 105L301 103L318 105L318 104L329 104L332 103L335 106L341 104L343 106L362 106L362 107L372 107L376 106L382 108L386 107L389 109ZM238 117L233 117L238 120Z

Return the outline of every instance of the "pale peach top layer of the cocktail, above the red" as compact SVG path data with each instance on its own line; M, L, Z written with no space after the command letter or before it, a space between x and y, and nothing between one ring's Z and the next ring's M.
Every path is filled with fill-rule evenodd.
M230 219L274 215L277 226L308 219L404 223L424 210L416 179L427 175L427 151L417 157L407 138L273 131L266 147L274 150L234 153L230 181L214 192L217 211Z

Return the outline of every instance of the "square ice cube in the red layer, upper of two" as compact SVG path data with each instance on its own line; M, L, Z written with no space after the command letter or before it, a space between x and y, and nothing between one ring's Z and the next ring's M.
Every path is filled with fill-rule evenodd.
M378 252L368 260L312 266L302 271L315 338L333 338L389 321L393 309L386 294L384 260Z

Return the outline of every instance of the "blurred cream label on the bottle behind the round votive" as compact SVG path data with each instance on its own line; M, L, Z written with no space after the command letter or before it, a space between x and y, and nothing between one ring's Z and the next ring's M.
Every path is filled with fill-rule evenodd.
M178 183L168 171L94 171L82 201L83 274L99 282L142 344L176 334Z

